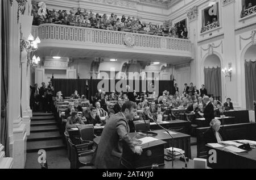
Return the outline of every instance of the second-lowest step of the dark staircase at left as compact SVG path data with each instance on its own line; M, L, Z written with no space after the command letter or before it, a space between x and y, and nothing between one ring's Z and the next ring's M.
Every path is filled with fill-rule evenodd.
M27 142L54 140L54 139L61 139L60 133L58 131L33 132L30 134L30 136L27 137Z

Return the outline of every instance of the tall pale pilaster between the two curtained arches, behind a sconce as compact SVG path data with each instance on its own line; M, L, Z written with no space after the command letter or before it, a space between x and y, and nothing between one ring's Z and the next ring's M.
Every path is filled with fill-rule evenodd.
M232 64L232 81L225 77L225 91L228 93L226 98L231 98L233 102L238 102L237 95L237 73L236 73L236 35L235 35L235 18L239 16L235 14L235 0L222 0L222 27L225 32L223 39L223 62L222 68L228 68L228 64ZM222 75L223 76L223 75ZM241 86L241 85L240 85ZM222 99L225 101L225 98Z

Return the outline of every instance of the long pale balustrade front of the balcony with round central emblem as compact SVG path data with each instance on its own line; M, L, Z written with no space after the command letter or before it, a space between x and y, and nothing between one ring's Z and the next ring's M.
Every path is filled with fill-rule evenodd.
M191 42L187 39L99 30L86 27L41 24L40 26L33 26L32 35L35 35L35 37L38 35L43 43L45 40L46 42L78 43L79 45L114 45L115 47L126 48L128 46L141 50L175 50L175 52L186 51L187 53L191 53Z

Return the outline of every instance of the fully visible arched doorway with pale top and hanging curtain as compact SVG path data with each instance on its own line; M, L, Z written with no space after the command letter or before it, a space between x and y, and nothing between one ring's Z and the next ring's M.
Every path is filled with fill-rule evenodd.
M208 95L221 100L221 61L217 55L205 58L204 83Z

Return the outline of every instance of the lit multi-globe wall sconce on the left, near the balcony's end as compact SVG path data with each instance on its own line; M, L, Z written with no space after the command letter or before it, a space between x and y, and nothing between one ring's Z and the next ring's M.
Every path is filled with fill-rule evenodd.
M36 37L36 39L34 40L34 37L31 34L28 36L27 40L20 39L20 53L24 51L24 49L27 51L27 65L30 64L31 66L37 66L40 62L40 57L33 56L33 58L31 59L32 52L38 50L38 44L40 43L41 41L39 37Z

